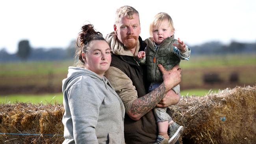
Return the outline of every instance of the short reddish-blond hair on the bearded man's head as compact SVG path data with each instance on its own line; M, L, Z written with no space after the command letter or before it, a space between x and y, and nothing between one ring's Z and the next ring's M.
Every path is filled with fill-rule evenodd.
M115 12L115 24L120 21L121 17L128 17L134 19L133 15L136 14L139 17L139 12L131 6L122 6Z

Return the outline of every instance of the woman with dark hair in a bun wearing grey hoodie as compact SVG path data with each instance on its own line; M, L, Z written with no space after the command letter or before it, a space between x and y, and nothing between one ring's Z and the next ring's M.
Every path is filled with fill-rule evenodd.
M91 24L82 27L76 42L82 65L70 66L62 81L63 144L124 144L124 106L104 76L111 63L109 45Z

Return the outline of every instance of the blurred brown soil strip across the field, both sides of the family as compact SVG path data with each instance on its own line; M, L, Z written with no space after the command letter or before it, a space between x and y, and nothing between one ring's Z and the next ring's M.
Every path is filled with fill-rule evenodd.
M230 82L230 76L236 73L237 81ZM221 81L205 83L205 74L217 74ZM43 94L61 92L62 79L67 74L45 76L0 77L0 95L4 94ZM256 66L232 66L214 68L182 68L180 87L186 89L226 89L236 86L256 84Z

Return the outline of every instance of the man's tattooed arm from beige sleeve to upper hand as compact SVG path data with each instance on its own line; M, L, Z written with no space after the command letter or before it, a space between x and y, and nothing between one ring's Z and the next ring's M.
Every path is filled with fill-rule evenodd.
M121 70L111 66L106 72L106 77L109 79L111 85L114 87L115 91L119 94L122 102L124 103L126 113L133 120L139 120L143 115L148 113L148 111L156 107L156 105L165 97L165 94L172 87L180 83L181 70L178 69L178 66L174 66L174 68L169 71L164 70L161 65L159 68L163 73L164 82L158 88L152 90L141 98L138 98L137 91L132 85L131 79L128 78L128 76L126 76L126 74ZM121 81L125 85L121 85Z

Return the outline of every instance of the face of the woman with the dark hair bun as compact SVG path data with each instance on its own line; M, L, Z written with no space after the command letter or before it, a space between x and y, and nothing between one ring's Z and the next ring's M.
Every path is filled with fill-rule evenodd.
M85 55L85 68L103 77L111 63L110 48L107 42L103 40L91 41L87 54L82 53L83 55Z

